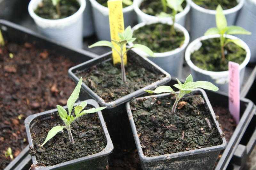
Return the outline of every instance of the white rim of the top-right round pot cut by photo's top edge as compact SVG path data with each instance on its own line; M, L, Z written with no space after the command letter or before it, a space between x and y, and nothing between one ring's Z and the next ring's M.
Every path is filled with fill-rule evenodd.
M227 10L223 10L223 13L225 15L228 15L228 14L239 11L244 5L244 0L237 0L237 1L239 1L239 3L235 7L227 9ZM205 9L205 8L195 4L193 2L193 0L187 0L187 2L190 4L190 6L192 8L196 9L197 11L204 12L204 13L211 14L211 15L216 15L216 10Z

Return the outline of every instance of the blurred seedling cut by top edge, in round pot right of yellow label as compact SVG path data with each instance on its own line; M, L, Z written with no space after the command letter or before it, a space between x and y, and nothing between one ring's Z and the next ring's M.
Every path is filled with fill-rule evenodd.
M163 5L163 12L161 12L158 17L171 17L172 18L172 25L171 25L171 35L175 35L174 23L175 17L178 12L183 11L181 4L184 0L161 0ZM172 9L171 14L167 14L167 7Z

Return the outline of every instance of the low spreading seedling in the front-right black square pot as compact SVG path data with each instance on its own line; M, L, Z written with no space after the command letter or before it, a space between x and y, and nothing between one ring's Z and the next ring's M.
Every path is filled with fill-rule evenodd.
M172 92L172 93L174 93L174 95L176 97L176 100L175 100L175 102L172 106L172 114L174 114L175 110L176 110L176 107L177 107L177 104L179 103L180 99L185 94L188 94L188 93L192 92L194 89L203 88L203 89L206 89L206 90L212 90L214 92L219 90L218 87L216 87L215 85L213 85L212 83L207 82L207 81L193 82L193 78L192 78L191 74L186 78L186 81L185 81L184 84L182 84L180 82L180 80L178 80L178 79L177 79L177 81L178 81L178 84L175 84L173 86L180 89L180 92L178 94L172 90L172 87L166 86L166 85L159 86L155 90L145 90L145 91L150 93L150 94L152 94L152 93L159 94L159 93L162 93L162 92Z

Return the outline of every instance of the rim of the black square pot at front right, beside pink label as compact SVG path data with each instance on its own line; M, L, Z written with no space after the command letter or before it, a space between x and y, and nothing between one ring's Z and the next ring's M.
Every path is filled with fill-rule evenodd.
M219 132L219 135L221 137L222 134L222 130L219 127L219 122L216 121L215 117L216 115L214 114L214 111L212 109L212 105L205 93L204 90L202 89L195 89L193 91L199 91L202 94L202 97L204 98L204 101L206 103L206 105L209 107L210 110L210 114L212 116L213 122L215 123L215 126ZM157 95L150 95L150 96L146 96L146 97L140 97L140 98L136 98L135 100L139 100L139 99L147 99L147 98L152 98L152 97L160 97L160 96L167 96L170 95L171 93L164 93L164 94L157 94ZM127 110L127 114L128 114L128 118L131 124L131 128L132 128L132 133L134 136L134 140L137 146L137 150L139 153L139 157L140 160L143 162L153 162L153 161L160 161L160 160L166 160L166 159L173 159L173 158L178 158L178 157L183 157L183 156L188 156L188 155L194 155L194 154L200 154L200 153L206 153L207 151L220 151L226 148L227 146L227 142L225 137L221 137L222 139L222 144L220 145L216 145L216 146L211 146L211 147L205 147L205 148L200 148L200 149L194 149L194 150L190 150L190 151L184 151L184 152L177 152L177 153L171 153L171 154L164 154L164 155L159 155L159 156L145 156L143 151L142 151L142 147L140 144L140 139L137 133L137 129L135 126L135 122L133 120L133 116L132 116L132 111L131 111L131 107L130 107L130 101L126 103L126 110Z

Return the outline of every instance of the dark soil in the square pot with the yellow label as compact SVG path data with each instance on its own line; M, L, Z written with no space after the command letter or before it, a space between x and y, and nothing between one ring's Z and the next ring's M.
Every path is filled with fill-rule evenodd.
M128 51L126 83L122 81L120 64L114 66L112 60L98 63L76 75L83 77L84 83L105 102L112 102L165 77L160 71L149 69L140 58L133 51Z

